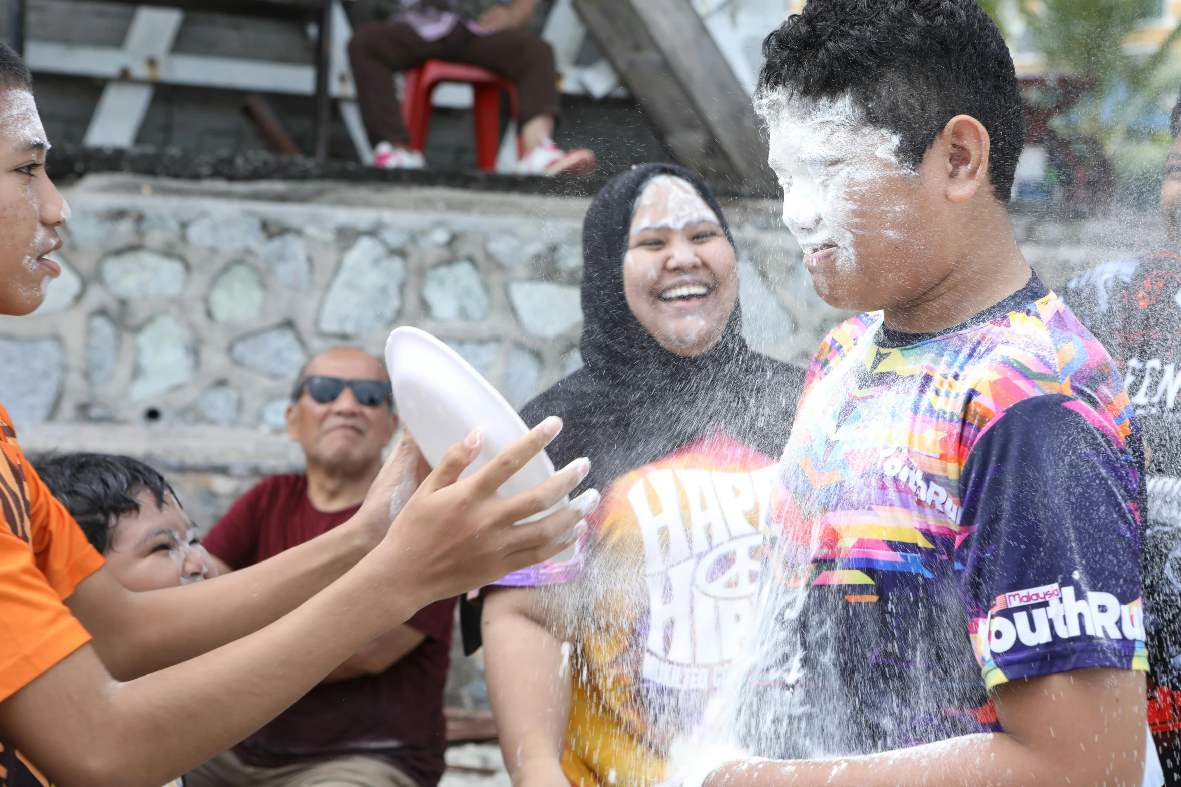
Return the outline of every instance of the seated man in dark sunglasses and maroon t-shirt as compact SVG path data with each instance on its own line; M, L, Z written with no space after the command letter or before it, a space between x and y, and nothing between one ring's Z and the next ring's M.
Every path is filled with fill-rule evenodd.
M385 366L351 347L313 358L295 381L287 433L304 473L242 496L204 546L218 569L254 565L348 520L398 426ZM364 783L435 787L443 775L455 599L378 637L254 735L191 773L190 787Z

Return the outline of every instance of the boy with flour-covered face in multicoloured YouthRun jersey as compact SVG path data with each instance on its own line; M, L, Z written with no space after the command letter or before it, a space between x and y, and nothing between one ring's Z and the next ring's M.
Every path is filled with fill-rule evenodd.
M816 291L869 311L809 367L720 714L772 760L689 781L1141 783L1138 438L1010 229L1004 40L974 0L810 0L764 52L784 222Z

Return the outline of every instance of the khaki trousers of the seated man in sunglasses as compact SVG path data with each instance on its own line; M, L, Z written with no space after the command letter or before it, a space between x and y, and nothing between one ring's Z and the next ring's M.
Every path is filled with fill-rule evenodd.
M418 787L413 779L374 758L257 768L242 762L233 750L190 772L184 783L185 787Z

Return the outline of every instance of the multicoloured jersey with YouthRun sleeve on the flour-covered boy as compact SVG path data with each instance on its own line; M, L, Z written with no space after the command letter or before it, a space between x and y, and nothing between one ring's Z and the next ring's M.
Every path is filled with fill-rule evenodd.
M785 727L755 753L998 730L999 683L1147 669L1137 446L1111 359L1036 276L938 334L833 330L771 499L752 686Z

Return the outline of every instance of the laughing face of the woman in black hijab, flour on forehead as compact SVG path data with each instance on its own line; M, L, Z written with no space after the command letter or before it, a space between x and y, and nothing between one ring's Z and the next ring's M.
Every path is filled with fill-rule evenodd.
M700 355L722 337L738 302L733 247L717 216L681 178L645 186L624 255L624 293L640 324L677 355Z

